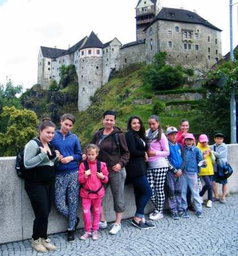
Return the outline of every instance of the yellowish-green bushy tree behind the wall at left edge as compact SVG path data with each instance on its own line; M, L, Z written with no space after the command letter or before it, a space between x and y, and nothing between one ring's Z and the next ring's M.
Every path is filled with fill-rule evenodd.
M31 110L17 110L15 107L3 107L0 115L5 119L6 132L0 133L1 156L16 156L20 149L36 136L39 123L35 112Z

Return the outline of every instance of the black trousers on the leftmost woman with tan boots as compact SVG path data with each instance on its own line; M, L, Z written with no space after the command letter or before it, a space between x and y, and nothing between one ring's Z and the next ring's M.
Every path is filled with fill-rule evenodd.
M36 219L33 223L33 240L47 238L48 217L54 200L54 183L36 185L25 183L25 191L29 196Z

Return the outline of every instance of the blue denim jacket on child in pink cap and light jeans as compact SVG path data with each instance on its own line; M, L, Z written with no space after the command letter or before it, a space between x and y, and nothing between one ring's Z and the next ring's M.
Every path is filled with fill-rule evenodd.
M203 160L202 152L196 146L188 148L184 146L182 150L182 166L181 170L187 173L200 173L201 168L198 163Z

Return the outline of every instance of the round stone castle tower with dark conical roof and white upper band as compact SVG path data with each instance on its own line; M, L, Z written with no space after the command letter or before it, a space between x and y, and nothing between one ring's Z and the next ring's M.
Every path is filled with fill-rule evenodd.
M87 110L90 97L103 83L103 43L92 31L79 49L79 111Z

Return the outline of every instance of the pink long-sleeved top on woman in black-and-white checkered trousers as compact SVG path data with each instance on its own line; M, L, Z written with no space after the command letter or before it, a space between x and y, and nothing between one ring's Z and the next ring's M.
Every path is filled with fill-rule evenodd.
M151 142L149 150L154 151L156 156L149 157L148 162L154 162L160 157L167 157L169 155L168 139L164 133L162 133L160 141L153 140Z

